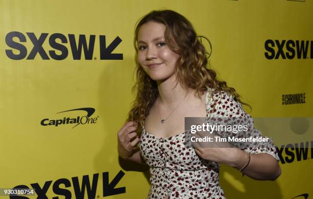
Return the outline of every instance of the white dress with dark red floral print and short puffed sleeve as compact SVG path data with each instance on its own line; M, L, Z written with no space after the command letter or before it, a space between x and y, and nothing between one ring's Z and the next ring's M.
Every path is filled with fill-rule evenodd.
M222 91L214 94L214 99L209 99L210 92L206 93L207 117L251 118L244 112L241 103L236 102L230 94ZM249 134L253 137L261 135L257 129ZM193 148L186 147L186 136L187 132L183 132L176 136L159 138L150 134L143 126L139 146L142 158L150 167L150 190L147 198L226 198L219 185L219 163L204 160ZM279 160L271 139L270 142L242 150L268 153Z

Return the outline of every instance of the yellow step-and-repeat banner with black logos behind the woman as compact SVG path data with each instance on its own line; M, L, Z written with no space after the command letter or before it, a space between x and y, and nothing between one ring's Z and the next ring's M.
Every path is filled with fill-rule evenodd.
M252 116L312 117L310 0L1 0L0 188L146 198L148 171L119 160L117 131L135 97L135 24L155 9L183 14L210 39L210 64ZM301 143L307 153L290 147ZM277 181L221 166L227 198L313 198L312 142L286 144Z

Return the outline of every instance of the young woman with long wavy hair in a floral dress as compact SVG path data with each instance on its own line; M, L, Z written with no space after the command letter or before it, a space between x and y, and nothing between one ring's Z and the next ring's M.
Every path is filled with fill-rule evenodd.
M206 50L184 16L171 10L148 13L136 27L134 45L137 97L118 132L118 152L150 167L148 198L225 198L220 164L256 180L278 178L271 139L240 149L185 147L185 117L251 117L235 90L207 68ZM260 136L256 129L248 133Z

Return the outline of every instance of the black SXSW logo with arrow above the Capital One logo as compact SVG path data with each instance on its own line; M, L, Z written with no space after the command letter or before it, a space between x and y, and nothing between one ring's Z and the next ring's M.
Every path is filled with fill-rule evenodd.
M49 36L49 37L48 37ZM92 60L97 59L94 57L94 49L96 47L96 35L89 35L89 39L86 35L63 35L61 33L41 33L35 35L35 33L27 32L23 34L21 32L12 31L6 35L6 43L9 48L6 49L6 55L13 60L28 59L33 60L35 56L38 56L43 60L63 60L71 54L74 60ZM122 39L119 36L106 44L105 35L99 35L98 48L100 50L100 60L120 60L123 59L123 54L112 53L114 49L121 43ZM25 42L32 43L32 49L27 49L23 45ZM43 49L44 42L48 42L51 48ZM63 44L69 43L70 48L66 48ZM10 49L11 48L11 49ZM15 49L15 53L12 49ZM16 52L16 50L18 52ZM83 54L83 56L82 56ZM37 56L37 58L38 58Z

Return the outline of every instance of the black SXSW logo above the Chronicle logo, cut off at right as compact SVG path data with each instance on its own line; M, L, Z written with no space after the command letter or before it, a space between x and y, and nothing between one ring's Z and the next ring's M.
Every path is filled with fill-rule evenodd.
M264 48L266 59L313 59L313 41L267 39Z

